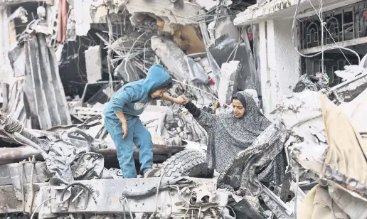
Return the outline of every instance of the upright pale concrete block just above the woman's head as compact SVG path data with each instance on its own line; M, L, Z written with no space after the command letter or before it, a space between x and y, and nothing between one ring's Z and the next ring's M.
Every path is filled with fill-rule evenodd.
M220 83L218 87L218 99L220 102L230 104L233 92L237 90L237 75L240 71L239 61L223 63L220 69Z

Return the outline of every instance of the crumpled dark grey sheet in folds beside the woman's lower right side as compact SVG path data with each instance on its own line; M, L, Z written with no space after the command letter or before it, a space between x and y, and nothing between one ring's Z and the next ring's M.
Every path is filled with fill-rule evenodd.
M258 196L260 181L284 181L284 142L287 131L281 124L272 124L253 142L252 146L235 156L218 177L218 186L241 189L246 195ZM258 175L258 176L257 176Z

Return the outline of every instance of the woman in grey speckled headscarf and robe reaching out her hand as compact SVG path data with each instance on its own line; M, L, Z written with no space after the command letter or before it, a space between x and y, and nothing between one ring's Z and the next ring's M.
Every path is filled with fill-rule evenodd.
M247 149L272 124L247 92L233 95L233 113L208 114L186 97L186 109L208 133L208 166L222 172L228 162Z

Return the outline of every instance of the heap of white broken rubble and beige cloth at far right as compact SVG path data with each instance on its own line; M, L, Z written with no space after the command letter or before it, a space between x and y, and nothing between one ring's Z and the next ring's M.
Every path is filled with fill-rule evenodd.
M348 68L346 67L346 69ZM287 127L289 134L292 135L286 145L289 145L289 157L292 161L295 161L294 169L301 168L301 171L298 170L297 172L303 172L299 181L319 181L320 178L324 178L325 183L319 183L319 189L323 186L326 188L326 193L327 190L329 190L329 193L330 191L337 191L332 196L327 193L327 197L324 197L326 196L322 195L324 191L317 190L317 187L312 188L312 191L307 193L304 198L301 208L299 208L301 218L326 216L327 212L325 210L323 210L324 213L317 210L319 208L317 203L324 203L322 208L326 206L326 203L329 205L330 200L331 203L336 202L341 206L346 206L341 200L346 200L347 196L349 198L353 196L350 199L352 202L358 202L361 199L366 201L364 193L358 190L358 188L365 187L363 186L364 183L361 182L366 181L363 176L358 175L358 169L367 164L364 159L358 161L359 156L365 154L364 148L366 145L366 136L363 134L366 132L366 127L363 122L361 123L361 116L363 115L361 109L366 109L362 101L366 98L366 90L360 89L361 84L364 84L364 76L359 75L358 79L354 78L352 80L353 82L349 80L326 90L320 90L317 85L319 80L325 81L324 77L321 75L319 79L316 78L315 80L315 78L304 76L299 89L295 90L296 92L292 95L284 97L274 112L276 117L280 118ZM350 86L351 83L354 83L354 86ZM320 91L317 92L317 90ZM353 99L350 99L350 102L340 102L337 94L343 93L353 94L353 96L349 96ZM327 100L326 96L331 100ZM341 100L344 100L343 97L345 96L340 95L340 97ZM339 106L334 105L331 101L336 102ZM342 122L343 124L334 124L336 122ZM343 130L338 134L336 133L338 132L336 127L343 127ZM349 143L341 144L341 141L349 141ZM351 142L354 142L354 144ZM350 149L353 146L358 149ZM343 152L346 150L356 151L356 154ZM344 156L341 156L341 154L344 154ZM358 163L358 165L354 165L353 162ZM343 165L340 165L341 163ZM356 182L355 186L349 186L346 182L349 178L353 178ZM366 202L358 205L353 213L345 207L335 208L334 215L339 215L339 218L358 218L356 215L365 213L362 207L365 204ZM329 211L329 213L331 212Z

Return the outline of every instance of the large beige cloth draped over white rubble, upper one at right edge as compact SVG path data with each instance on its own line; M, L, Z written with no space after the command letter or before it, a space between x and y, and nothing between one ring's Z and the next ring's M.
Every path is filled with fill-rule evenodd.
M346 114L324 95L321 96L322 117L329 148L323 175L329 181L366 196L367 146Z

